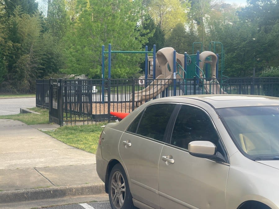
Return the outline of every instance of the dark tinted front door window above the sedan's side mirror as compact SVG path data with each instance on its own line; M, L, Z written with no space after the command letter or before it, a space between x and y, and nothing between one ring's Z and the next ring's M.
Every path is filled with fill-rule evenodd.
M188 149L191 141L211 141L216 147L219 137L209 116L196 107L182 105L177 115L170 144Z

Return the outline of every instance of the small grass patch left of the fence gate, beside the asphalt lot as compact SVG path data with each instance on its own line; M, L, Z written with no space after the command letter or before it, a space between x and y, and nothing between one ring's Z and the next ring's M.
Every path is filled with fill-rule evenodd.
M21 122L24 122L27 125L49 123L48 109L42 109L37 107L30 108L30 109L35 112L41 113L41 115L34 114L34 113L19 113L16 115L2 115L0 116L0 119L19 120Z

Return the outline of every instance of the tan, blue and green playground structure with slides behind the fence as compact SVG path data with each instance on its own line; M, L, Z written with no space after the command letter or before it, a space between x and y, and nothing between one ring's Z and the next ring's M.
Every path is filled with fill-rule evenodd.
M203 45L200 42L193 43L200 44L201 50ZM221 82L223 78L223 66L224 66L224 50L223 44L220 42L210 42L209 50L211 46L214 47L214 52L212 51L197 51L194 55L188 55L186 52L184 54L178 54L172 47L165 47L160 49L155 53L155 45L153 51L148 51L147 47L145 51L111 51L111 45L109 45L109 51L104 51L104 46L102 47L102 78L104 80L104 54L109 54L109 64L108 64L108 78L110 78L110 56L111 53L144 53L145 54L145 76L139 78L139 86L144 87L140 91L134 92L134 101L142 102L155 98L160 93L163 93L170 84L173 84L174 93L176 96L176 85L184 91L184 94L189 93L189 88L191 79L194 77L199 78L202 82L202 90L198 92L206 94L227 94L222 89L222 84L218 82L218 54L216 52L216 45L221 45ZM153 57L148 57L148 53L153 53ZM149 65L148 65L149 63ZM152 78L153 81L146 83L148 78ZM180 83L177 83L176 79L179 79ZM199 82L198 80L198 82ZM193 84L193 83L192 83ZM198 85L194 84L194 85ZM199 88L199 87L198 87ZM102 89L102 92L103 89ZM190 92L191 94L191 92ZM194 94L192 92L192 94ZM196 93L195 93L196 94ZM132 95L130 95L130 100L132 101ZM103 94L104 97L104 94Z

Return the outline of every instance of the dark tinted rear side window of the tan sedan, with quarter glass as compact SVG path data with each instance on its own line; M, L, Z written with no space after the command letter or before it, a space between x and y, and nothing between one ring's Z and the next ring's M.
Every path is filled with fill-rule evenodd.
M140 114L135 118L127 131L163 141L169 118L175 106L175 104L148 106L142 113L143 115Z

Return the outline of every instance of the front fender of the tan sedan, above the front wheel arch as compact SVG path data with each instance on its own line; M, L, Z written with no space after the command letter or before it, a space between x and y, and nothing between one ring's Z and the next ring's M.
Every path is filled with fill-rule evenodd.
M278 169L252 161L240 152L233 154L230 161L226 186L227 209L238 208L250 200L279 209L279 183L275 178L279 175ZM274 191L274 188L277 190Z

